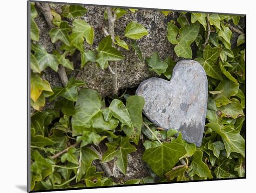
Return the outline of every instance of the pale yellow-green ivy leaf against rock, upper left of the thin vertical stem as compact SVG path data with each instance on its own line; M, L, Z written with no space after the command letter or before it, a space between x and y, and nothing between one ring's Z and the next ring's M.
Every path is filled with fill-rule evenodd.
M70 35L71 44L80 45L83 43L84 38L88 44L93 44L94 29L87 22L75 19L73 26L74 28Z

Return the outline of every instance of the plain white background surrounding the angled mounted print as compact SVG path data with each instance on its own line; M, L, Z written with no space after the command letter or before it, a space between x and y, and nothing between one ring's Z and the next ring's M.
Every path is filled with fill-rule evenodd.
M54 0L53 0L54 1ZM219 13L247 14L247 179L195 183L130 186L104 189L77 190L77 193L120 192L190 192L238 193L253 191L256 181L256 153L254 109L256 96L254 77L256 63L255 5L241 0L61 0L70 3L87 3L127 7L153 7ZM24 193L27 179L27 2L5 0L1 2L0 30L0 166L1 192ZM251 96L251 97L250 97ZM249 105L248 105L249 104ZM249 191L249 192L252 192ZM65 191L71 193L74 191ZM56 192L57 193L57 192ZM64 192L62 192L64 193Z

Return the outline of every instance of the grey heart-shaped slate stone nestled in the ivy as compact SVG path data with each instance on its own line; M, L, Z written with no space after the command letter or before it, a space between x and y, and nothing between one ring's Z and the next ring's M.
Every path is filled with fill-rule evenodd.
M181 60L170 81L150 78L136 94L144 97L143 113L155 125L176 129L189 143L201 146L204 132L208 83L203 67L195 60Z

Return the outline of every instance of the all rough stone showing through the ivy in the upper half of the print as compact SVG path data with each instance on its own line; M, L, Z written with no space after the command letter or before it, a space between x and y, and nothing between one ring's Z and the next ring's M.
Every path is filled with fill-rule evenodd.
M62 7L61 4L57 4L53 7L55 10ZM101 28L104 27L108 30L108 20L104 20L105 7L97 6L84 6L88 9L88 12L80 19L85 20L94 28L94 42L93 45L84 43L85 49L96 50L99 42L104 38L104 33ZM131 21L136 21L143 25L148 30L148 35L137 40L138 46L141 49L143 58L150 56L153 52L160 53L160 57L164 60L167 56L172 56L174 60L178 60L178 57L174 54L174 45L168 42L166 38L167 34L167 24L170 20L176 20L179 13L175 12L169 14L167 17L164 16L159 11L139 9L136 13L131 13L127 10L127 13L115 22L115 35L120 36L129 45L133 40L124 37L125 28ZM65 19L70 25L74 19ZM49 33L49 27L38 10L38 17L35 18L40 30L40 40L39 42L34 42L37 44L42 44L46 47L47 51L51 53L54 51L55 46L52 44ZM124 88L137 87L141 81L146 80L150 77L157 76L156 73L149 71L148 66L145 62L141 62L135 51L129 47L129 50L120 48L120 52L124 55L125 59L118 62L117 74L118 74L118 87L119 90ZM193 49L195 50L195 49ZM77 61L74 61L73 59ZM102 97L112 94L112 80L108 69L102 70L100 67L96 66L96 63L88 63L82 70L80 69L80 54L76 54L72 58L74 62L75 76L77 79L83 80L87 83L87 86L91 89L98 91ZM110 66L111 66L111 62ZM51 86L59 86L60 79L58 74L52 69L48 69L47 73L51 76L47 77L43 75Z

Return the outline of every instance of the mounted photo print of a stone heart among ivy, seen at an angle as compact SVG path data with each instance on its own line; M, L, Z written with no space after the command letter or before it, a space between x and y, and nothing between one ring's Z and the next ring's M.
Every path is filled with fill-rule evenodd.
M245 15L27 5L28 192L245 178Z

